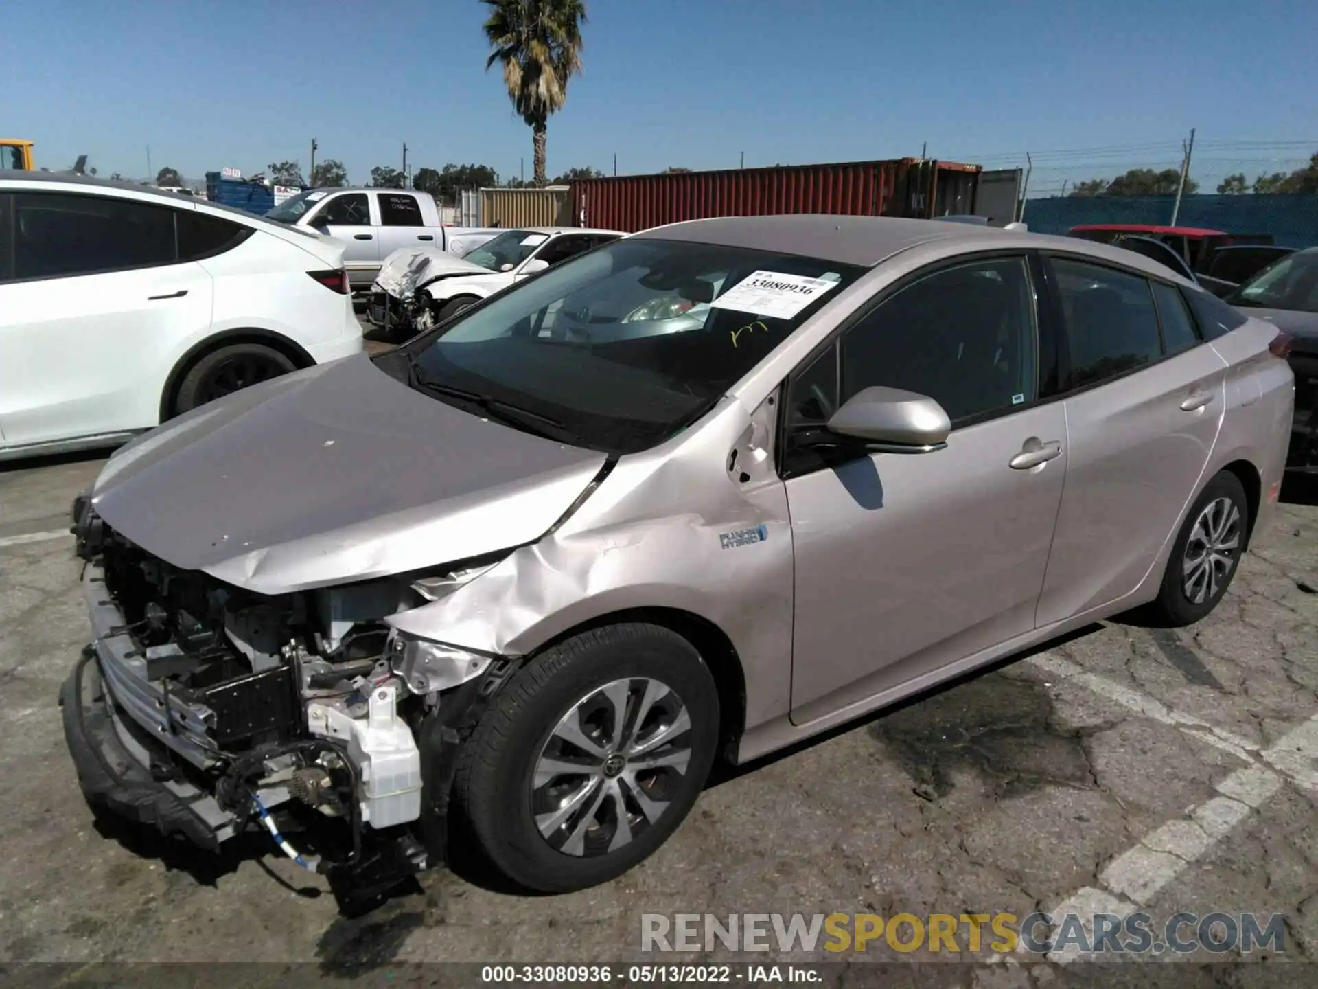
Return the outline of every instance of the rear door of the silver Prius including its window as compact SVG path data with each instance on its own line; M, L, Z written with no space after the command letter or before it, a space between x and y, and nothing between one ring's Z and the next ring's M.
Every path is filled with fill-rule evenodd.
M1177 289L1048 258L1069 458L1040 626L1133 591L1198 492L1222 427L1227 364Z

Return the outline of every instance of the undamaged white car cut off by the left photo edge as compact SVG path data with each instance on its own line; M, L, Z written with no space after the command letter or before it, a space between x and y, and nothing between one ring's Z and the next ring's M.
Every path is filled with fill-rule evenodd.
M360 352L343 251L174 193L0 171L0 460L117 446Z

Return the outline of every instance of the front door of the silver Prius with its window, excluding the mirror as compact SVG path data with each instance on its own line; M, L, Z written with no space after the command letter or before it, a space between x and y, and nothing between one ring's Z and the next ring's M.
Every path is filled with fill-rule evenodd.
M1033 629L1066 469L1061 402L1037 401L1039 355L1029 264L994 256L917 277L793 376L795 723ZM816 446L838 398L870 385L936 398L946 447Z

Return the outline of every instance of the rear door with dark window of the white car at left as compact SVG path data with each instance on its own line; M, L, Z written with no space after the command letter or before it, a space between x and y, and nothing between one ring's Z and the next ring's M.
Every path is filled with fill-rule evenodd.
M211 326L211 276L178 260L181 211L74 193L14 193L11 207L13 258L0 284L5 442L154 426L142 410L159 407L162 355Z

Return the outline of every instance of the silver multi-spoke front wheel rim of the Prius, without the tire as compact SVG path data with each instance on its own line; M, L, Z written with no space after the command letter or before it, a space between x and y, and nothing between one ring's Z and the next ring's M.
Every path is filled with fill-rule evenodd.
M651 678L613 680L577 700L536 757L531 812L550 847L614 852L655 824L691 764L691 715Z

